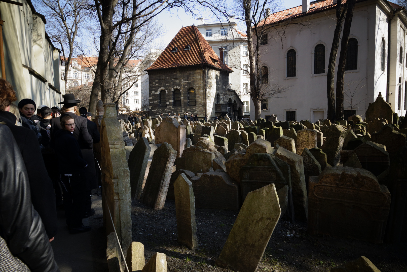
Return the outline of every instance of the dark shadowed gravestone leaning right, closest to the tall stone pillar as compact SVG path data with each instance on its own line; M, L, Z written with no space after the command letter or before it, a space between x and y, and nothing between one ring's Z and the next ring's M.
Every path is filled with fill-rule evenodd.
M140 138L129 154L127 165L130 170L131 198L140 199L144 175L150 157L151 147L147 139Z

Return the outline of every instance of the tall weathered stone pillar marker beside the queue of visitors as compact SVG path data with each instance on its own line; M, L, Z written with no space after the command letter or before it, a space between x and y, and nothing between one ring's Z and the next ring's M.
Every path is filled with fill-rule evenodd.
M131 244L130 173L126 162L123 133L117 120L116 104L108 103L104 107L100 141L103 224L106 234L112 233L114 232L113 220L123 251L127 252Z

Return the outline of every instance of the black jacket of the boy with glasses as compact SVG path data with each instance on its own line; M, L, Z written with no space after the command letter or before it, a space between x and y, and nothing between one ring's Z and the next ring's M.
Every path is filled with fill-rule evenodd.
M60 174L84 173L88 163L83 159L78 141L71 132L59 129L55 132L55 153Z

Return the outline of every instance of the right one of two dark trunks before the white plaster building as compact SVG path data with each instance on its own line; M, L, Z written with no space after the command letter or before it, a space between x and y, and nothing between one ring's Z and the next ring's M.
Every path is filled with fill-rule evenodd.
M336 112L337 121L344 118L344 81L345 81L345 64L348 54L348 37L350 26L352 25L353 9L355 0L346 1L347 10L344 22L344 32L342 33L341 52L339 53L338 72L336 77Z

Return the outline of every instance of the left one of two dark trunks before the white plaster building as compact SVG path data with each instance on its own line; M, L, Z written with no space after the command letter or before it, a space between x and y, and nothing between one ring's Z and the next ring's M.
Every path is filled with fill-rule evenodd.
M334 88L334 79L335 79L335 64L336 57L338 54L339 48L339 39L341 37L342 23L344 21L344 14L346 12L346 7L342 10L341 1L338 1L336 6L336 27L334 31L331 51L329 54L329 63L328 63L328 73L326 77L326 92L328 94L328 107L327 107L327 116L326 118L330 120L335 120L335 88Z

